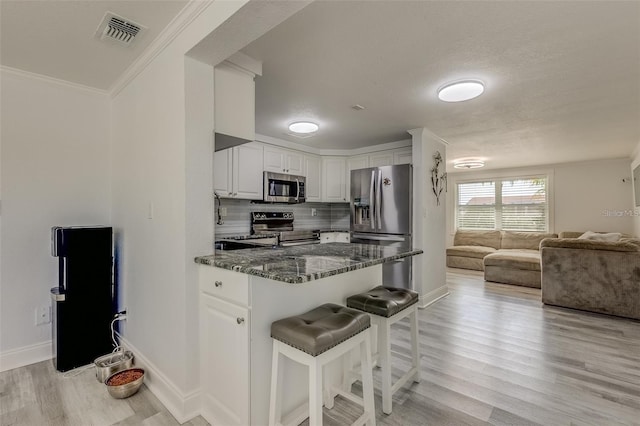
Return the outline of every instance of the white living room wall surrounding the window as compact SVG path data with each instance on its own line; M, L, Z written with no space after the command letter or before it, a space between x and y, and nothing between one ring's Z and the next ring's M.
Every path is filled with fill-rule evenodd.
M482 172L459 172L449 174L447 194L448 244L452 244L455 232L455 185L461 179L485 177L523 176L549 174L550 232L562 231L616 231L633 233L633 218L630 215L606 215L606 211L629 211L632 208L632 186L628 179L630 160L613 159L578 163L552 164L519 169L487 170Z

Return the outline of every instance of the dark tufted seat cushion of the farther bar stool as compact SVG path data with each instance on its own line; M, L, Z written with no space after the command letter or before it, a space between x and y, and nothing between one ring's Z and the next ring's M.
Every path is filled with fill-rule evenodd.
M389 318L418 302L418 293L408 288L375 287L347 298L347 306Z

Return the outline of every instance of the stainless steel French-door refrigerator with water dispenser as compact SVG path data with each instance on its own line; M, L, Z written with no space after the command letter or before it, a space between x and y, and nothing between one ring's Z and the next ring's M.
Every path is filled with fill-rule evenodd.
M351 171L351 242L411 248L410 164ZM382 265L383 285L411 288L411 257Z

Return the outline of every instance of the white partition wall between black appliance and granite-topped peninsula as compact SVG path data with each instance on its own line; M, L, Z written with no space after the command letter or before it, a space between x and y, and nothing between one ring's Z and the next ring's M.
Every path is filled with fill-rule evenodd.
M213 236L213 93L207 93L213 80L185 53L243 4L213 2L112 105L112 216L126 340L153 369L148 384L179 421L198 409L193 258L210 252ZM211 108L194 111L207 100Z

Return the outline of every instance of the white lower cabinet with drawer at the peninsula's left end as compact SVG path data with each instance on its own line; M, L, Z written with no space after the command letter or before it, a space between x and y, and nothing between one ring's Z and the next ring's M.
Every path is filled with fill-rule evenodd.
M251 311L210 292L226 291L220 296L228 300L248 295L234 287L242 283L225 279L225 274L210 283L217 269L201 268L208 269L200 270L201 414L212 425L248 425Z

